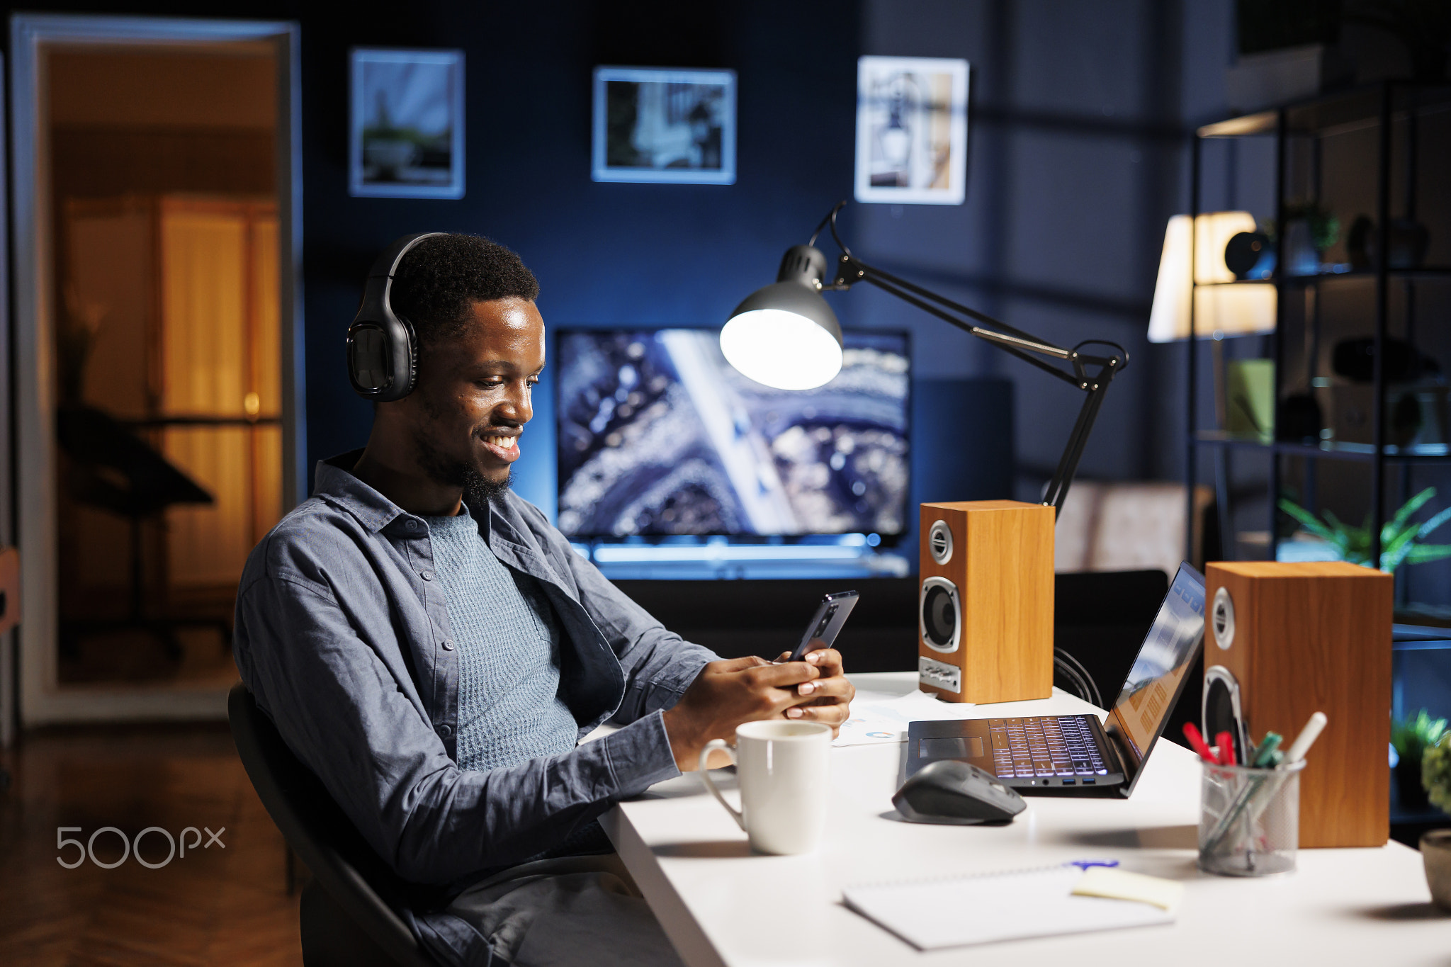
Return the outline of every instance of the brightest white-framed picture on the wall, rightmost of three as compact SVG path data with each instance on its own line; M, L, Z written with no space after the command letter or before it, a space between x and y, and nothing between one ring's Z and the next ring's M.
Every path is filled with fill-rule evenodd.
M968 62L856 62L856 200L962 204L968 178Z

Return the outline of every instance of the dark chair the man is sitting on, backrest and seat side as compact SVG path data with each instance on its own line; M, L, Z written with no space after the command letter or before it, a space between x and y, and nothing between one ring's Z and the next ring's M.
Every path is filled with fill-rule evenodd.
M247 686L232 687L226 715L257 796L312 870L299 913L305 967L438 967L395 913L402 880L292 754Z

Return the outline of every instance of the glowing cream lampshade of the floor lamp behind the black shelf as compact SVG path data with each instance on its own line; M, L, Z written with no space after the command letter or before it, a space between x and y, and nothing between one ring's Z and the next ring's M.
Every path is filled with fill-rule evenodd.
M1154 286L1149 342L1188 339L1191 291L1197 336L1274 332L1274 283L1236 281L1225 265L1229 239L1254 231L1255 217L1249 212L1210 212L1197 219L1175 215L1170 219L1159 277ZM1197 287L1191 286L1191 278L1199 283Z

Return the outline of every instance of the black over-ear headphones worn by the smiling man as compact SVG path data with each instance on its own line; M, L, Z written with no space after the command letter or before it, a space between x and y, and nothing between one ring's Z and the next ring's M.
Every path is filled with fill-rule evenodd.
M408 251L425 238L443 232L405 235L377 257L367 274L363 304L348 326L348 380L366 400L392 403L414 391L418 377L418 336L406 319L389 304L393 274Z

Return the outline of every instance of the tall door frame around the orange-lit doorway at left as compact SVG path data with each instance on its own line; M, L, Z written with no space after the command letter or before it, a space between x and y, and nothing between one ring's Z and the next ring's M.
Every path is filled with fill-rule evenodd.
M271 43L277 62L277 216L281 289L283 507L306 493L302 322L299 25L16 13L10 17L10 197L15 251L16 467L22 616L20 722L225 719L226 690L180 684L62 686L58 677L55 520L54 226L45 48Z

